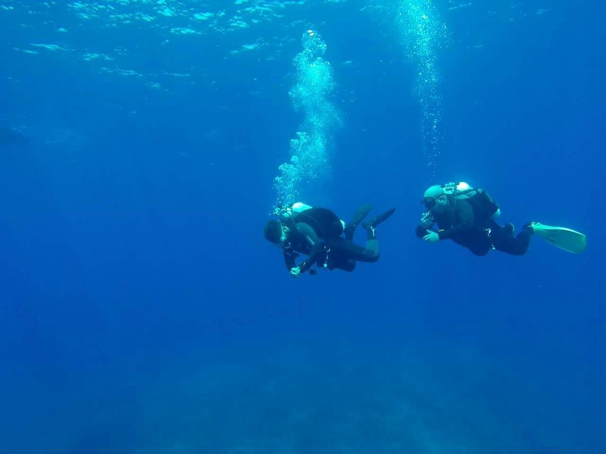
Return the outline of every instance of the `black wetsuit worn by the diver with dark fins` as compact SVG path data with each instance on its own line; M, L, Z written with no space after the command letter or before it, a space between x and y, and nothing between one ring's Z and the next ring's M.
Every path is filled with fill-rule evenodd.
M375 232L368 229L366 247L351 241L353 230L346 237L341 236L341 220L326 208L310 208L293 216L287 223L290 227L284 251L284 263L290 270L295 268L299 254L307 255L307 260L299 264L305 272L314 264L320 268L353 271L356 261L376 262L379 260L379 243Z

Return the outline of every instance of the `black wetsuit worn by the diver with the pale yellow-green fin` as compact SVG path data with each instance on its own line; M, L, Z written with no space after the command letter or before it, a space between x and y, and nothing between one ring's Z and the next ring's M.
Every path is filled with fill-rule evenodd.
M433 212L440 240L453 240L475 255L486 255L493 247L511 255L526 254L532 235L531 228L525 227L514 237L510 230L487 217L473 200L453 198L449 203L445 212ZM416 235L423 238L427 235L427 229L419 224Z

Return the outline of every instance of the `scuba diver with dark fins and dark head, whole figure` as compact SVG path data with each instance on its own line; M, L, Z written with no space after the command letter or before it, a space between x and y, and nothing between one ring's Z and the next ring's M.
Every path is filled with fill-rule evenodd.
M353 234L372 208L372 205L362 205L346 224L330 209L297 202L276 209L279 220L268 221L263 234L268 242L282 249L284 263L292 277L299 277L305 271L316 274L316 269L311 268L313 265L331 271L353 271L356 262L379 260L376 228L396 211L391 208L362 224L367 231L364 248L353 243ZM307 255L307 259L296 265L300 254Z

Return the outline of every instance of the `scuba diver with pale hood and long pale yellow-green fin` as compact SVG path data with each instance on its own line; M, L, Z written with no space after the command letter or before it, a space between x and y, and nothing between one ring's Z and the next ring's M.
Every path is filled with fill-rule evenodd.
M580 254L587 245L585 235L580 232L538 222L526 223L514 235L513 224L501 227L496 222L501 209L488 192L464 182L430 186L421 203L425 211L416 228L417 237L428 243L453 240L474 255L486 255L491 249L524 255L533 234L574 254ZM438 229L434 227L436 224Z

